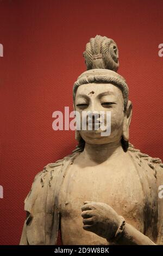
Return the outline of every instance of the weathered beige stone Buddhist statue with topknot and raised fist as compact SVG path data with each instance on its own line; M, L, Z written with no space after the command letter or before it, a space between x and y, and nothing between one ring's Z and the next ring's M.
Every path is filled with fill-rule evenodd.
M132 103L117 45L96 35L83 55L74 109L111 111L111 133L76 130L72 154L35 176L20 245L56 245L59 229L63 245L163 245L163 164L129 143Z

